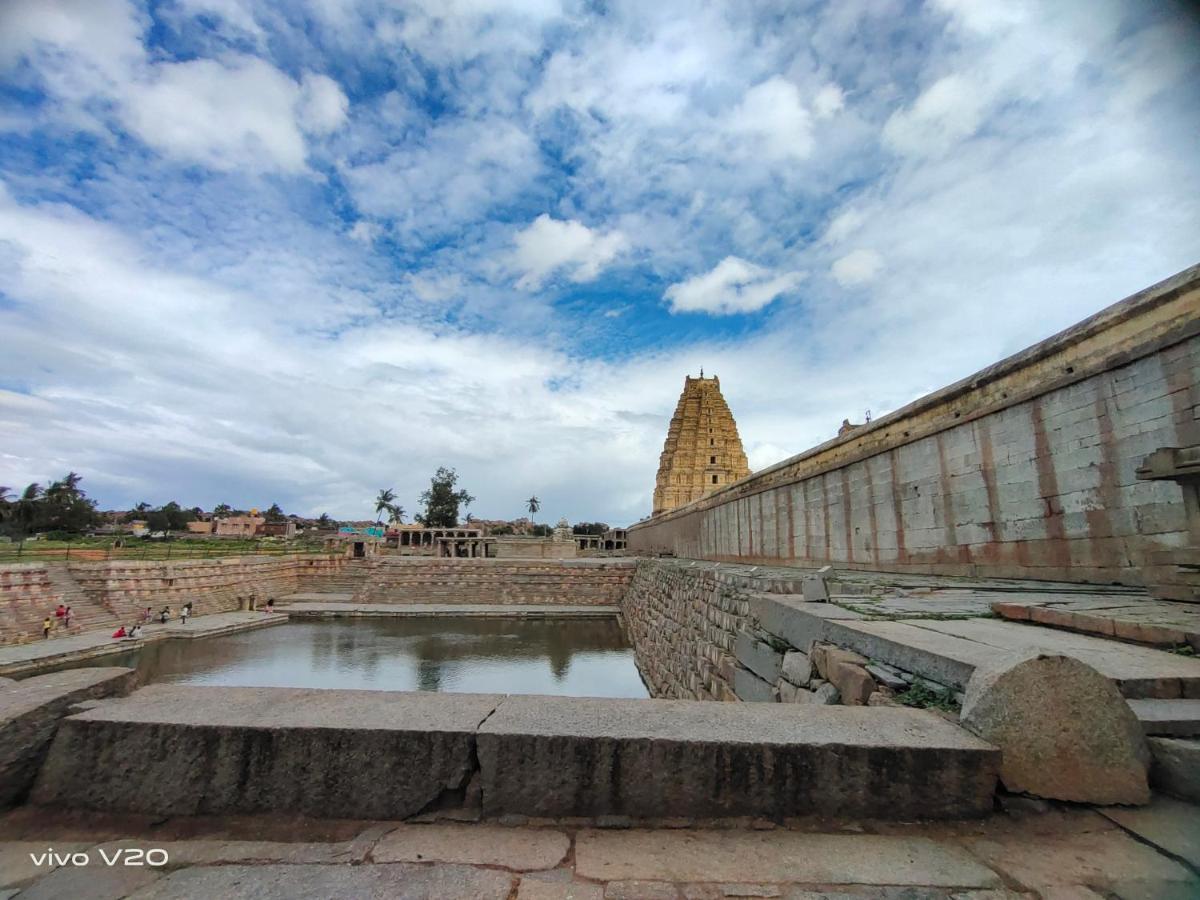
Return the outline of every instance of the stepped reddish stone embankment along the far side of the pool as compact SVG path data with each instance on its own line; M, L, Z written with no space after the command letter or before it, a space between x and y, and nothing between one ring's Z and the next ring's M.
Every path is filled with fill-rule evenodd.
M631 559L439 559L379 557L354 593L362 604L554 604L616 606Z

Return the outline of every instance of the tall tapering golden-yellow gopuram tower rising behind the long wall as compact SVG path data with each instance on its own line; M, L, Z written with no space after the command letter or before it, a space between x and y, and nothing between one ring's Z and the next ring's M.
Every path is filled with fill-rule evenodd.
M738 425L733 421L721 379L686 376L671 416L667 440L654 482L654 515L698 500L750 474Z

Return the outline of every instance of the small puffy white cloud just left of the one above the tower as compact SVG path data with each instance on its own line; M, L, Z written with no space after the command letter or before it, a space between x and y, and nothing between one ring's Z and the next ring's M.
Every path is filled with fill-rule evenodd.
M512 264L521 277L517 287L533 290L558 271L574 282L593 281L600 271L629 248L620 232L601 234L575 220L559 221L542 212L518 232Z

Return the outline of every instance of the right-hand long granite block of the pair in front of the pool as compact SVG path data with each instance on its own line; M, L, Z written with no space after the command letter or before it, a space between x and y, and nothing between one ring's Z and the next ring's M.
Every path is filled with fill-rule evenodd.
M952 818L998 754L918 709L509 697L478 737L484 811Z

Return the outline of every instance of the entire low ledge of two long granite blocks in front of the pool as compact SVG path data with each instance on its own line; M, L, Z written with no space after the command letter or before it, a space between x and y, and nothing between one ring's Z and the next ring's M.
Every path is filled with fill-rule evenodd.
M491 817L961 818L998 767L907 708L155 684L64 720L31 800L406 818L478 778Z

